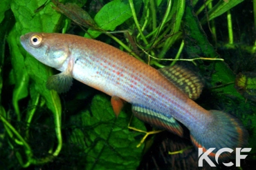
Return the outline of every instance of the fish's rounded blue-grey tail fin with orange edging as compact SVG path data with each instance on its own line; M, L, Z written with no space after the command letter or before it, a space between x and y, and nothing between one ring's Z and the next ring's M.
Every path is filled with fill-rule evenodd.
M232 157L235 148L245 147L248 140L248 132L240 121L223 111L210 110L213 121L203 129L190 131L190 138L196 147L203 148L203 152L209 148L216 148L208 156L214 157L219 149L228 147L232 153L223 152L221 159Z

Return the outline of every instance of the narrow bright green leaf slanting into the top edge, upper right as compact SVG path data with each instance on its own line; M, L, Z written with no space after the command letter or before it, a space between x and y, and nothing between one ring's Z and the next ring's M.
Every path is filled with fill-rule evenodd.
M207 20L211 21L212 19L219 17L224 12L227 12L231 8L234 8L234 6L237 6L237 4L241 3L244 0L227 0L227 1L219 1L209 12L208 15L203 17L201 20L201 23L205 23Z

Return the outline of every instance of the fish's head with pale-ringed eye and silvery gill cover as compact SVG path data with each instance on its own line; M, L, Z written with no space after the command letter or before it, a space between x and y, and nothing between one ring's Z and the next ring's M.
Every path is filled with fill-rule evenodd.
M68 44L60 38L60 34L30 32L22 35L20 40L24 49L35 59L58 69L70 56Z

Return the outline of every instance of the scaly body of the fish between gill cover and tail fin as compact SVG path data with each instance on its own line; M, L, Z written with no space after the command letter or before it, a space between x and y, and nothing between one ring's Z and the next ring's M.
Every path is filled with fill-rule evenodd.
M98 43L100 43L99 48ZM167 116L173 116L189 129L191 121L198 121L195 119L197 113L204 112L204 116L207 116L208 111L187 98L183 92L173 86L170 81L167 81L157 70L141 63L129 54L116 50L116 48L100 41L89 39L76 48L80 52L73 54L71 57L80 59L75 63L75 71L73 71L73 78L78 81L95 87L109 94L109 96L118 96L129 103L150 105L152 109L161 111ZM89 50L83 52L83 49ZM97 53L95 53L96 51ZM113 69L111 63L118 65L116 72L110 71ZM98 76L100 81L95 81L94 77L86 74L84 65L90 65L89 70L93 72L91 75ZM64 69L60 71L63 72ZM82 74L82 72L85 74ZM120 74L117 74L118 72ZM135 75L140 79L140 81L136 81L137 85L131 83L131 81L134 81L134 78L131 80L131 77ZM149 95L152 97L149 97ZM196 108L199 110L197 111Z

